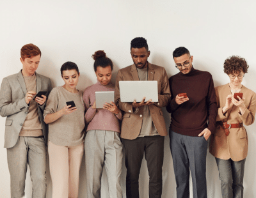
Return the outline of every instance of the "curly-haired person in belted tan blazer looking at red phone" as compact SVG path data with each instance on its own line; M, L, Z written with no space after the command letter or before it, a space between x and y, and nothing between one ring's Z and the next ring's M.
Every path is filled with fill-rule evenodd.
M210 153L215 156L220 172L222 197L243 197L244 163L248 153L244 125L252 125L256 110L256 94L241 84L248 67L244 58L228 57L224 72L230 82L215 88L218 115ZM243 93L243 97L236 99L235 93Z

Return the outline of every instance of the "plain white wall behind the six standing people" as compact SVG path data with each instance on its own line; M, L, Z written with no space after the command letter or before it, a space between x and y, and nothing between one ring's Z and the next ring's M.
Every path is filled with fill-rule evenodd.
M151 51L150 63L166 68L168 76L178 72L172 59L176 47L187 47L194 56L193 66L212 73L215 86L228 82L223 62L228 56L245 57L250 65L243 84L256 91L256 3L255 1L0 1L0 80L19 72L20 48L34 43L42 50L38 73L61 86L60 66L74 61L81 70L79 89L96 82L92 54L102 49L113 60L114 77L120 68L132 64L129 54L132 38L143 36ZM115 80L115 78L113 79ZM164 109L166 128L170 115ZM10 176L4 144L4 121L0 118L0 197L10 197ZM256 197L256 125L246 126L249 152L244 174L244 197ZM164 142L163 196L176 197L169 137ZM83 161L84 164L84 161ZM108 197L106 174L102 197ZM85 196L86 176L81 168L79 197ZM122 172L125 197L125 166ZM208 197L221 197L220 180L214 157L207 155ZM148 197L147 165L140 174L141 197ZM29 173L26 197L31 197ZM47 171L47 198L51 178Z

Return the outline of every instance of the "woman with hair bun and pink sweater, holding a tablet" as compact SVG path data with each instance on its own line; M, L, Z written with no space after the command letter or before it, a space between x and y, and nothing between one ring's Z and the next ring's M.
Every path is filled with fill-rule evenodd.
M84 141L87 197L100 197L103 167L108 177L109 197L122 197L120 174L122 171L122 142L120 121L122 112L114 102L105 103L103 109L95 107L95 91L115 91L110 82L113 63L103 50L93 54L97 83L84 90L87 134Z

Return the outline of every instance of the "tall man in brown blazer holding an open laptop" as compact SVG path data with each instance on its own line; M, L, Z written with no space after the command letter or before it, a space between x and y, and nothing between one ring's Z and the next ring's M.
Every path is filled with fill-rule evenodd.
M140 197L138 179L141 161L145 153L148 165L149 197L161 197L164 137L166 125L161 107L170 100L170 88L163 67L148 63L150 55L147 40L134 38L131 41L133 65L118 70L115 100L124 111L121 137L125 148L126 196ZM142 101L122 102L119 82L122 80L157 80L158 102L143 98ZM124 91L124 90L122 90Z

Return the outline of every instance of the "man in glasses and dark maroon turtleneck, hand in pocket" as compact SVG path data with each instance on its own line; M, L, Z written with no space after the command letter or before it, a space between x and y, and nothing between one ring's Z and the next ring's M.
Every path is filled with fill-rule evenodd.
M217 114L212 75L193 68L193 56L185 47L175 49L173 59L180 72L169 79L172 97L166 109L172 113L169 135L177 198L189 198L189 169L193 197L205 198L207 140Z

